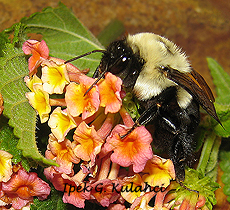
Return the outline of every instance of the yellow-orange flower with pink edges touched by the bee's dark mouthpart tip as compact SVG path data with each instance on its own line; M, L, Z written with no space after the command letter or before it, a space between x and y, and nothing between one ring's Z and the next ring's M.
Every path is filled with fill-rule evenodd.
M82 119L92 116L99 108L99 93L97 86L93 87L85 96L85 92L94 79L85 75L79 76L80 84L70 83L66 87L65 100L67 108L73 117L82 114Z

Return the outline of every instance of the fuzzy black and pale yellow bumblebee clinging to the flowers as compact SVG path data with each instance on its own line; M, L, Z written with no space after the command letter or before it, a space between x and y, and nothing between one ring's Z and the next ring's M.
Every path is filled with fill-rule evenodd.
M103 55L91 87L106 72L122 79L125 89L135 95L144 110L124 136L137 126L153 122L154 143L169 155L176 180L183 182L185 166L193 156L199 107L221 124L209 86L178 46L154 33L128 35L112 42L105 51L96 51Z

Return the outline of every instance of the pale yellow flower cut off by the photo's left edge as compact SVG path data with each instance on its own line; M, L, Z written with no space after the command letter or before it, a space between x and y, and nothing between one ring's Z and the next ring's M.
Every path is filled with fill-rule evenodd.
M11 159L13 155L0 150L0 182L7 182L12 175L12 163Z

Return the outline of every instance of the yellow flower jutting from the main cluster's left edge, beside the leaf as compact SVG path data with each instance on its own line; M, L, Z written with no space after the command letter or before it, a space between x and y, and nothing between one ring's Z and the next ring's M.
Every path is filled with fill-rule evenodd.
M41 123L44 123L48 120L51 111L49 94L43 90L41 84L34 84L33 90L33 92L26 93L26 98L28 98L30 105L39 114Z

